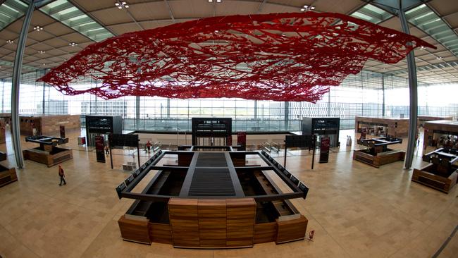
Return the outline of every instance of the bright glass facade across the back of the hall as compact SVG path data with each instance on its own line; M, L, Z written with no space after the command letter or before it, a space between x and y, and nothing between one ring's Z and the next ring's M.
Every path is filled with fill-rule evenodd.
M122 97L104 100L90 94L66 96L36 82L44 70L23 74L20 110L23 115L87 114L123 116L125 130L191 130L192 117L233 118L233 131L280 132L301 130L302 117L338 117L341 129L354 128L354 116L409 116L407 79L362 71L350 75L316 104L245 99L166 99ZM97 87L97 81L74 87ZM419 83L419 115L458 116L454 89L458 84ZM11 79L0 80L1 112L11 112ZM385 109L384 109L385 108Z

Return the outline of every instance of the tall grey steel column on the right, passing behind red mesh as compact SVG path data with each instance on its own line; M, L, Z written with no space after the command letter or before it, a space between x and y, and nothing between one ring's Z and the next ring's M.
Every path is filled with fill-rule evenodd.
M401 20L402 32L409 34L409 25L402 8L402 0L399 1L399 18ZM408 42L407 44L411 44ZM417 96L417 82L416 82L416 65L414 51L412 50L407 55L407 70L409 72L409 93L410 93L410 107L409 107L409 137L407 142L407 152L404 162L404 168L409 169L414 159L415 137L416 137L416 116L418 112L418 96Z

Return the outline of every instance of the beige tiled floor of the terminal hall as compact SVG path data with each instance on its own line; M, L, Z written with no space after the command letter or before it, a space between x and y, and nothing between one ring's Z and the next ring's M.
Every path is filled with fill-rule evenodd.
M354 136L342 132L342 140L349 134ZM343 142L327 164L316 163L314 170L307 151L288 152L288 170L310 188L307 199L293 203L309 219L308 231L315 231L312 242L239 250L125 242L117 221L132 201L119 200L114 188L128 176L121 164L132 161L136 151L115 151L111 170L109 162L95 161L93 150L78 147L76 136L70 134L69 143L74 159L63 163L67 185L58 186L56 167L25 161L19 181L0 188L2 257L431 257L458 223L457 187L447 195L412 183L402 162L373 168L353 161L353 147ZM23 147L34 146L23 142ZM397 148L405 148L405 142ZM0 150L13 153L9 138ZM418 156L417 167L424 165ZM146 159L143 152L142 162ZM283 163L283 153L277 159ZM440 257L457 254L455 235Z

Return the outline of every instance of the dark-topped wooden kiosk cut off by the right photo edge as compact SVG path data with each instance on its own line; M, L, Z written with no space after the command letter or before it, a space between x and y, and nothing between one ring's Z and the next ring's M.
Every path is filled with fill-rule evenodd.
M450 192L458 179L457 152L457 149L441 148L424 154L423 161L430 164L421 169L415 168L412 181L442 192Z

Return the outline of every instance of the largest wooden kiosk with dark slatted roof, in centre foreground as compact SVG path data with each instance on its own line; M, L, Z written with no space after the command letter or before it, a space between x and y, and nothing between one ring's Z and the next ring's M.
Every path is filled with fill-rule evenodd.
M225 151L205 151L216 148ZM178 163L156 166L166 155L177 156ZM247 155L267 166L246 166ZM141 193L131 192L149 171L158 172ZM280 190L272 176L290 190ZM118 221L120 233L123 240L185 248L303 240L308 221L289 199L305 198L308 190L266 152L160 150L116 188L120 198L136 199Z

